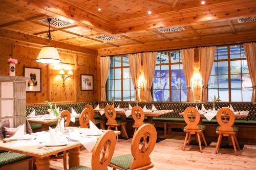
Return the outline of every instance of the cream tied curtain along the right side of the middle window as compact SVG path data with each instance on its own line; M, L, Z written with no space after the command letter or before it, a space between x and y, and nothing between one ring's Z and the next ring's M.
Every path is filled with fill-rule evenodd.
M187 83L187 102L195 102L192 88L194 74L195 48L181 50L183 71Z

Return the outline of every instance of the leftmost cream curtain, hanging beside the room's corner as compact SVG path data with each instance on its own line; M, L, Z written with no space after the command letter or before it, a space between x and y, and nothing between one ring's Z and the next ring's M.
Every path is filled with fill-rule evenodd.
M100 57L100 84L101 84L101 94L100 101L106 101L106 91L105 84L106 80L108 80L110 70L110 57Z

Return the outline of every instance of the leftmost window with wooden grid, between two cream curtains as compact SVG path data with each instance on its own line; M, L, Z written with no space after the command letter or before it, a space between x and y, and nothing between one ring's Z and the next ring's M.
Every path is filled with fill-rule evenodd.
M108 100L134 101L129 59L126 56L111 57L108 77Z

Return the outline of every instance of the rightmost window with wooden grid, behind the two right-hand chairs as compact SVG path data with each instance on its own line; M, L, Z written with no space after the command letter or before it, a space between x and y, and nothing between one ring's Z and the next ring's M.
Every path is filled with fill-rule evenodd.
M218 47L208 82L208 101L216 95L224 102L249 102L251 93L243 45Z

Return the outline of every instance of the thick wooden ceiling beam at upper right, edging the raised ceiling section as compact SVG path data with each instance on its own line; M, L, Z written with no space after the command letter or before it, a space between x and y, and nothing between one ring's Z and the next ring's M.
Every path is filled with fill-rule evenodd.
M228 7L223 9L223 7ZM148 15L116 22L115 34L136 32L142 30L157 30L174 26L187 26L191 23L216 22L255 16L256 1L237 0L204 5L195 8L182 9ZM171 16L171 17L170 17Z

